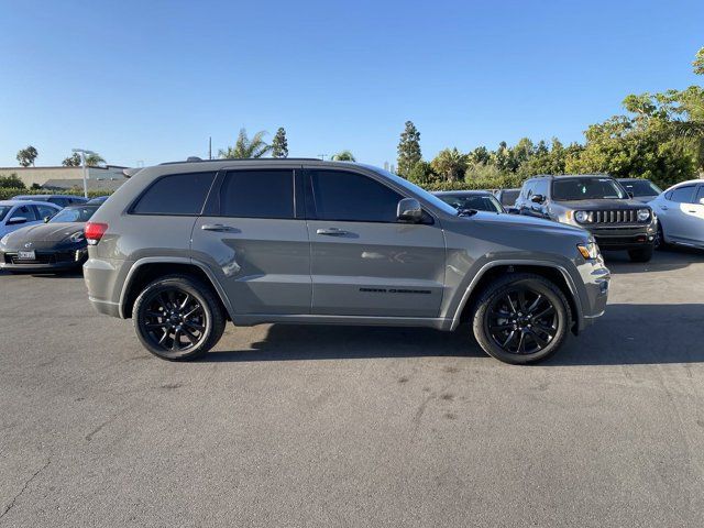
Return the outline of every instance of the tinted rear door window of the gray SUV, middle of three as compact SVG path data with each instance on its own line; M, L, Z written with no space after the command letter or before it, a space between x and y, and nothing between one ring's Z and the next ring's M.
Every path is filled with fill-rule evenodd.
M220 215L294 218L294 172L232 170L220 189Z

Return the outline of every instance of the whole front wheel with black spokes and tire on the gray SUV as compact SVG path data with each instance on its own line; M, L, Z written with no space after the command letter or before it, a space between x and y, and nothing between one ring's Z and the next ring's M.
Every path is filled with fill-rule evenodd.
M562 290L528 273L508 274L491 283L472 316L474 337L484 352L519 365L554 354L571 324L570 302Z

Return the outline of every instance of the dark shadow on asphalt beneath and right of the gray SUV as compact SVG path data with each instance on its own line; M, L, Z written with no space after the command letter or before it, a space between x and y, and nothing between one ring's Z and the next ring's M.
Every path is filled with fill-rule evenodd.
M704 305L609 305L581 336L570 336L543 366L704 362ZM237 329L234 330L237 331ZM485 358L464 324L424 328L273 324L251 350L211 352L204 362Z

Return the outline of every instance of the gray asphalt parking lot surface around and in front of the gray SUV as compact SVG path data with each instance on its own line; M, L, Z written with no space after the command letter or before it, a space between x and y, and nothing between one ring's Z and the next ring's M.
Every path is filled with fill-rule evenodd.
M509 366L462 331L229 327L145 352L82 278L0 275L0 526L704 526L704 253Z

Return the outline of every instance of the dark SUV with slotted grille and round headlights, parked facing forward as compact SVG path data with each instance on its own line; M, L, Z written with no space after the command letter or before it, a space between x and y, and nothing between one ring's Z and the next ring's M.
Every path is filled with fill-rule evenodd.
M626 250L634 262L652 258L658 231L650 206L630 198L604 175L536 176L524 182L516 208L588 230L600 248Z

